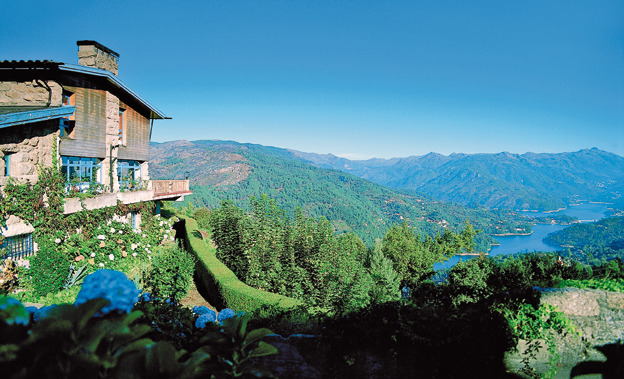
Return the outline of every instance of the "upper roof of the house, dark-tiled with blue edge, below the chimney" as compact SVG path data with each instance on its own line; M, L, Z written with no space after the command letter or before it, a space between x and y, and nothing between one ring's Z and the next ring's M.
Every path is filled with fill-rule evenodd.
M123 94L132 97L134 100L138 101L141 105L143 105L150 112L151 119L170 119L171 117L167 117L163 112L159 111L156 107L148 103L145 99L139 96L136 92L130 89L130 87L126 86L123 82L121 82L117 76L113 73L102 70L94 67L87 67L81 65L73 65L73 64L65 64L63 62L49 61L49 60L35 60L35 61L0 61L0 70L2 69L11 69L21 73L28 73L30 71L33 72L50 72L60 70L62 72L67 73L77 73L90 77L95 77L99 79L106 80L106 82L112 85L118 91L121 91Z

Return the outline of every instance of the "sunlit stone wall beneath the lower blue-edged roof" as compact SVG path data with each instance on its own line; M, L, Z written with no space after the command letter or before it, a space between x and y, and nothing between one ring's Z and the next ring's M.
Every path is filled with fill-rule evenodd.
M34 183L38 167L52 165L54 142L59 134L59 121L50 120L3 128L0 133L0 187L5 176L5 155L10 154L11 177Z

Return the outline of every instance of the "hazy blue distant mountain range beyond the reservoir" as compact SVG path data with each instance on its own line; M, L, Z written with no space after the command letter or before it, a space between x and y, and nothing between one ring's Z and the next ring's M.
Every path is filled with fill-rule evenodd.
M624 193L624 158L596 148L560 154L429 153L366 161L292 153L387 187L488 208L554 210L579 201L621 201Z

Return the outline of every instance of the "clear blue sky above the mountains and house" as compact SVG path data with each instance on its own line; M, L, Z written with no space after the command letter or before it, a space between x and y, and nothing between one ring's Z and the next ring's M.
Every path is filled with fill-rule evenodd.
M624 155L624 1L7 1L0 60L120 54L172 120L221 139L348 158Z

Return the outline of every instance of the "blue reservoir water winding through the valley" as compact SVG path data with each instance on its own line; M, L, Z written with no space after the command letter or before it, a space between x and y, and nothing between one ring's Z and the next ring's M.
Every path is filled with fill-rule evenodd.
M577 217L581 222L592 222L605 218L605 213L608 210L607 207L607 204L588 203L570 206L559 212L523 212L523 214L529 217L548 217L565 214ZM531 253L534 251L557 251L560 249L559 246L548 245L543 241L543 239L546 238L548 234L562 230L566 227L567 226L564 225L537 224L533 226L533 233L529 236L495 237L500 242L500 246L492 246L490 256ZM436 263L433 268L436 271L444 268L450 268L457 262L471 258L473 258L473 256L456 256L446 262Z

